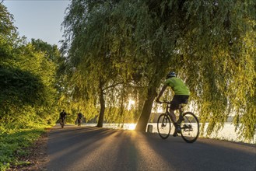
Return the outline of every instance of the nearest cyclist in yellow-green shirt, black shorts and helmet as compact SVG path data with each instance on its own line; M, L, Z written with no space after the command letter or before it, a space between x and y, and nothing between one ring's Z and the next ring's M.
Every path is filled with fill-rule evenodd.
M188 87L185 86L184 82L176 77L175 72L170 72L166 79L167 80L164 82L163 88L156 98L156 103L160 103L160 97L163 95L165 89L167 89L167 86L170 86L170 88L174 91L174 97L170 102L170 118L174 122L175 131L173 136L176 137L177 133L181 133L181 126L179 125L180 120L178 122L176 120L174 110L177 110L181 103L188 103L190 92Z

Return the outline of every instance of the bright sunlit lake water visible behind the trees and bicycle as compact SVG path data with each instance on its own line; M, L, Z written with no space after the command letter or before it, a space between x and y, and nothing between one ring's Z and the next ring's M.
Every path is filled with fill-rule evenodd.
M158 133L157 124L156 123L149 123L149 124L153 126L153 133ZM96 124L83 124L83 125L92 126L92 127L96 126ZM208 124L205 124L205 129L207 128L207 126ZM136 127L136 124L103 124L103 127L112 128L112 129L134 130ZM170 134L173 134L173 132L174 132L174 127L172 126ZM205 137L205 135L202 137ZM253 141L244 141L243 138L238 137L238 134L235 131L235 126L230 123L224 124L223 129L220 130L218 134L212 134L208 138L217 138L217 139L226 140L226 141L237 141L237 142L240 141L240 142L256 144L256 135L254 136Z

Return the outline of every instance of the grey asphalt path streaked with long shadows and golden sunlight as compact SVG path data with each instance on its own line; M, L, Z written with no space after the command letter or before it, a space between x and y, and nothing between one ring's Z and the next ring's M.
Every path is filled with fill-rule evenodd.
M256 170L256 145L98 127L53 127L47 155L47 170Z

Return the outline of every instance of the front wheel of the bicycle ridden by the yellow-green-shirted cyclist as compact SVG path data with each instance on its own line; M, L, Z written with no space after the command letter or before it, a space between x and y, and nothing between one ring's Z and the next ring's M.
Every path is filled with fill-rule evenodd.
M160 114L157 120L157 131L161 138L166 139L170 135L170 118L167 113Z

